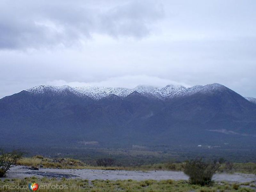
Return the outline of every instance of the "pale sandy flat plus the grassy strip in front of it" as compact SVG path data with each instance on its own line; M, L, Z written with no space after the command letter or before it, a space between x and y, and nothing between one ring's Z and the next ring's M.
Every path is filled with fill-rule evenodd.
M127 171L100 169L29 170L28 166L12 166L7 177L0 179L0 192L28 191L29 183L37 183L39 191L62 192L255 192L256 175L217 173L211 186L191 185L181 171Z

